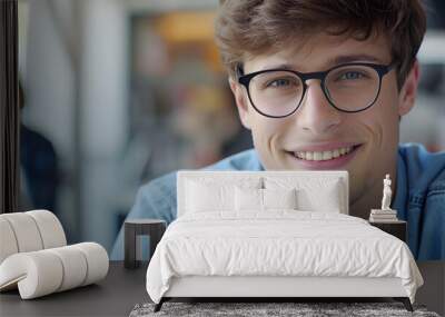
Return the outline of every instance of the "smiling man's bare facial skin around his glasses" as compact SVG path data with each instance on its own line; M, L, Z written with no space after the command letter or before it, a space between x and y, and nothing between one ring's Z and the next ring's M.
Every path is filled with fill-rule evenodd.
M296 71L313 72L327 70L345 60L389 65L389 44L382 36L357 41L319 34L299 49L250 58L244 63L244 72L280 68L283 65ZM251 129L265 169L347 170L353 202L376 184L382 188L382 177L387 172L395 174L399 116L409 111L414 103L413 96L405 96L405 91L413 90L412 87L406 88L405 83L399 91L396 70L393 69L383 77L373 107L357 113L345 113L329 105L319 80L312 79L306 83L308 89L297 111L277 119L258 113L246 89L231 82L241 121ZM310 157L312 160L306 159Z

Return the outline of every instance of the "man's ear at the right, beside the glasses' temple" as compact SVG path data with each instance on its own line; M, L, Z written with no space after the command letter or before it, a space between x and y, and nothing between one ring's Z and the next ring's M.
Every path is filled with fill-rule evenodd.
M416 60L402 86L398 95L398 116L405 116L413 109L417 96L417 86L421 76L421 68Z

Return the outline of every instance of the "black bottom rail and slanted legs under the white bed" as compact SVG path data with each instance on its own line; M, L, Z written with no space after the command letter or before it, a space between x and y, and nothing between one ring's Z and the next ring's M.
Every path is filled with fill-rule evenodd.
M162 297L160 301L155 305L154 311L158 313L162 308L162 304L169 300L184 303L380 303L387 301L387 299L400 301L407 311L414 311L408 297Z

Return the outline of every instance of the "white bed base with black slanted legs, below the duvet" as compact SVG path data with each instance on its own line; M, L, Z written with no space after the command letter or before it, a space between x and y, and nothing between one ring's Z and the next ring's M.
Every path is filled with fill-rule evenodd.
M394 277L174 277L155 311L172 299L198 303L375 303L393 299L402 301L408 311L413 311L402 280Z

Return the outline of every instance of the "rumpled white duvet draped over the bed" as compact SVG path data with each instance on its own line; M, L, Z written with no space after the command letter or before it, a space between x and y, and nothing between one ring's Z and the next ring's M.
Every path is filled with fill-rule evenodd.
M360 218L295 210L178 218L148 266L150 298L159 303L182 276L398 277L412 303L423 284L399 239Z

